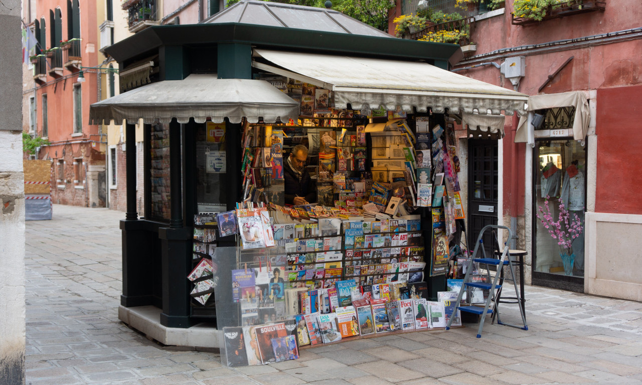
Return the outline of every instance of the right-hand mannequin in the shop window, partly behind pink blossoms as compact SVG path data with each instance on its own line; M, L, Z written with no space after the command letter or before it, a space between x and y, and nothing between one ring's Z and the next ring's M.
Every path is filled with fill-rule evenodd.
M578 167L578 161L573 160L571 165L566 167L564 182L562 182L562 192L560 201L564 203L566 209L571 214L575 214L584 223L584 173ZM572 215L571 215L572 216ZM573 240L573 253L575 253L575 262L573 266L580 271L584 270L584 232ZM582 275L582 274L580 274Z

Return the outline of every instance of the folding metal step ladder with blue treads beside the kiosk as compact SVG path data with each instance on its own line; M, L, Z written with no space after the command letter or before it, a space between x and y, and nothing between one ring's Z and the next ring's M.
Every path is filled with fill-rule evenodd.
M519 298L519 289L517 289L517 281L515 279L515 267L513 264L513 258L508 252L508 244L504 244L503 251L501 252L501 257L498 258L488 258L486 256L486 251L483 247L483 235L487 230L490 230L491 232L495 232L495 230L503 228L508 231L508 239L512 238L512 232L510 231L510 228L505 227L505 226L498 226L498 225L487 225L482 228L482 231L480 232L479 236L477 237L477 241L475 243L475 248L473 255L471 259L467 262L466 266L466 274L464 276L464 284L462 284L462 288L459 291L459 295L457 296L457 302L455 304L455 309L458 309L459 311L462 312L469 312L472 314L478 314L480 315L480 323L479 323L479 329L477 330L477 338L482 338L482 329L483 329L483 323L485 320L485 316L487 314L492 314L493 320L494 317L497 317L497 323L499 325L506 325L510 327L516 327L517 329L522 329L522 330L528 330L528 325L526 325L526 317L524 315L524 309L523 305L521 302L521 298ZM495 235L496 237L496 235ZM499 244L499 242L498 242ZM481 250L481 252L480 252ZM482 257L479 258L478 255L481 254ZM471 271L473 271L473 263L477 262L480 265L485 265L486 269L486 282L472 282L471 281ZM494 277L490 277L490 269L489 266L497 266L497 271L495 273ZM499 295L498 291L501 289L501 285L498 284L498 281L500 279L500 273L501 269L503 269L504 266L508 266L508 271L510 273L509 277L504 277L503 280L505 281L511 281L513 282L513 285L515 287L515 293L517 296L517 304L519 305L519 314L521 315L522 318L522 325L511 325L510 323L504 323L501 322L499 319L499 309L497 307L498 301L499 301ZM480 266L481 267L481 266ZM484 307L481 306L475 306L475 305L467 305L467 306L462 306L462 298L464 296L464 293L469 291L470 289L473 288L478 288L478 289L483 289L488 291L488 297L486 299ZM469 296L468 298L471 298ZM492 303L492 307L490 304ZM448 320L448 323L446 324L446 330L450 329L451 323L453 323L453 316Z

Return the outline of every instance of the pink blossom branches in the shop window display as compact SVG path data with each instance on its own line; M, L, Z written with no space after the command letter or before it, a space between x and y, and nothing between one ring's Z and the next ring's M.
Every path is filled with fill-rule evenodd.
M546 210L541 206L538 207L539 212L537 212L537 219L539 219L546 230L548 230L548 234L557 241L560 252L571 255L573 253L573 240L579 237L584 229L582 221L580 221L577 214L573 214L575 218L571 218L571 213L564 207L564 202L562 201L560 201L559 205L559 216L557 217L557 221L555 221L548 205L549 198L547 195L546 201L544 201Z

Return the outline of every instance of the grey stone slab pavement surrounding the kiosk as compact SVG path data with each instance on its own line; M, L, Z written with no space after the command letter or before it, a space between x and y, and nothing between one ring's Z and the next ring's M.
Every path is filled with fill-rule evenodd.
M26 223L26 378L56 384L642 384L642 304L526 287L529 330L476 325L322 345L225 368L117 319L125 215L54 205ZM516 311L503 305L503 320Z

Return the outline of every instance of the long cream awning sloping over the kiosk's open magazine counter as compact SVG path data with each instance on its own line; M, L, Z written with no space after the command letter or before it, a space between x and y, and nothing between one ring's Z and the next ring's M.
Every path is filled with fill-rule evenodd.
M336 108L525 114L528 96L421 62L255 49L252 65L334 91ZM265 59L259 61L256 56ZM269 63L269 64L268 64Z

